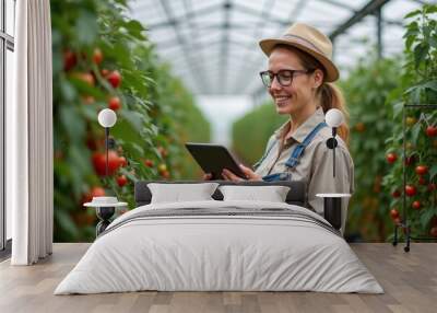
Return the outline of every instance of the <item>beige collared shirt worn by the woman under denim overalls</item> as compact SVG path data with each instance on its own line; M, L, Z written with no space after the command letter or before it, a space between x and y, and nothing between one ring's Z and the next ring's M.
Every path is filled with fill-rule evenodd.
M354 163L346 148L345 142L336 136L339 146L335 149L335 177L333 177L333 154L326 144L332 137L330 127L321 128L316 137L305 149L297 165L290 169L285 165L293 150L302 143L306 136L321 121L324 114L321 107L285 140L281 147L281 135L290 129L290 120L282 125L269 139L267 147L273 144L265 159L258 165L256 173L265 176L275 173L291 173L292 181L305 181L307 190L307 202L310 209L323 215L323 199L316 197L316 194L354 192ZM267 152L267 151L265 151ZM264 152L264 153L265 153ZM342 201L342 230L347 212L349 199Z

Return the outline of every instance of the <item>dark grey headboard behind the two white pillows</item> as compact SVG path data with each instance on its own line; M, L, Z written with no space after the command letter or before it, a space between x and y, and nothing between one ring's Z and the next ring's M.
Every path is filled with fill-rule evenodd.
M271 185L280 185L290 187L290 192L286 196L285 201L290 205L296 205L300 207L307 207L307 197L305 193L305 182L294 182L294 181L284 181L284 182L255 182L255 181L245 181L245 182L231 182L231 181L209 181L218 183L221 186L224 185L239 185L239 186L271 186ZM162 184L199 184L204 183L204 181L174 181L174 182L163 182L163 181L140 181L135 183L134 189L134 198L137 207L145 206L151 202L152 194L147 188L147 184L150 183L162 183ZM215 200L223 200L223 195L218 190L212 195Z

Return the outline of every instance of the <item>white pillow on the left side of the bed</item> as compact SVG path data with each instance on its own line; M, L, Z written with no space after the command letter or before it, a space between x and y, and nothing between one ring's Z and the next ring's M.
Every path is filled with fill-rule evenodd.
M152 193L151 204L213 200L211 196L217 186L217 183L147 184Z

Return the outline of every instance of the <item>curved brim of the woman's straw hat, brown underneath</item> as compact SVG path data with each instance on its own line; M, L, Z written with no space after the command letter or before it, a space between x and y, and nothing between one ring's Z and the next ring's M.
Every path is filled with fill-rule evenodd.
M335 65L330 59L328 59L326 56L323 56L322 54L319 54L319 53L315 51L314 49L306 47L305 45L295 43L290 39L282 39L282 38L267 38L267 39L262 39L259 42L261 50L267 56L270 56L273 48L280 44L295 47L295 48L303 50L303 51L311 55L312 57L315 57L324 67L326 71L327 71L327 77L326 77L327 82L333 82L339 79L340 73L339 73L339 70L335 67Z

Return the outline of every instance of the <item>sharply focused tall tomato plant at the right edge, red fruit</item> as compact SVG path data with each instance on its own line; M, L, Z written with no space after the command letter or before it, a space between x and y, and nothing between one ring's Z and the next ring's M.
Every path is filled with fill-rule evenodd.
M395 96L388 102L394 120L392 136L387 139L390 151L402 155L403 164L394 164L383 177L389 192L403 181L405 171L406 215L415 236L428 236L437 217L437 5L425 4L406 16L405 65ZM405 106L409 105L409 106ZM406 127L403 129L403 114ZM403 130L405 138L403 138ZM405 154L403 143L406 142ZM402 167L405 165L405 169ZM391 206L402 206L403 198L393 198Z

